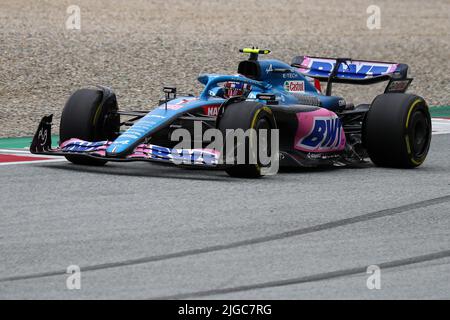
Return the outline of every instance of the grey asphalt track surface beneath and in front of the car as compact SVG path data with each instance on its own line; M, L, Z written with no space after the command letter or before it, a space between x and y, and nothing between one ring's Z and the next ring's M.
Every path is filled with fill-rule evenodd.
M260 180L148 163L0 166L0 298L450 298L450 135L415 170ZM81 289L66 268L81 267ZM381 289L366 286L369 265Z

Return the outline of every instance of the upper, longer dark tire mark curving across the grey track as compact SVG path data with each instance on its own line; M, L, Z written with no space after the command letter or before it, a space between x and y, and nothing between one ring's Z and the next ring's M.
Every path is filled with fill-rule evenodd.
M170 260L170 259L176 259L176 258L183 258L188 256L194 256L204 253L210 253L210 252L217 252L222 250L228 250L228 249L235 249L239 247L245 247L265 242L271 242L276 240L282 240L286 238L301 236L305 234L310 234L314 232L324 231L324 230L330 230L338 227L348 226L359 222L365 222L373 219L393 216L396 214L400 214L403 212L407 212L414 209L420 209L420 208L426 208L429 206L445 203L450 201L450 195L437 197L429 200L419 201L395 208L390 209L384 209L379 210L375 212L370 212L367 214L362 214L359 216L351 217L351 218L345 218L340 220L335 220L331 222L326 222L322 224L318 224L315 226L310 226L306 228L299 228L295 230L290 230L286 232L281 232L277 234L252 238L252 239L246 239L246 240L240 240L236 242L231 242L227 244L219 244L219 245L213 245L203 248L197 248L197 249L189 249L189 250L183 250L168 254L162 254L162 255L154 255L154 256L148 256L148 257L142 257L137 259L129 259L124 261L116 261L116 262L110 262L110 263L103 263L103 264L96 264L96 265L90 265L90 266L84 266L81 267L81 270L83 272L86 271L96 271L96 270L103 270L103 269L111 269L111 268L119 268L119 267L126 267L130 265L138 265L138 264L144 264L144 263L151 263L151 262L157 262L157 261L163 261L163 260ZM59 276L59 275L65 275L65 270L56 270L56 271L48 271L48 272L41 272L41 273L34 273L34 274L27 274L27 275L17 275L17 276L10 276L10 277L4 277L0 278L1 282L7 282L7 281L19 281L19 280L27 280L27 279L36 279L36 278L44 278L44 277L51 277L51 276Z

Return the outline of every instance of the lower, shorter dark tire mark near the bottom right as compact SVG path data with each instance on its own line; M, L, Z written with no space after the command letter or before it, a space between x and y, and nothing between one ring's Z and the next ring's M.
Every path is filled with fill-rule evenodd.
M380 267L380 269L385 270L385 269L402 267L402 266L407 266L407 265L426 262L426 261L443 259L443 258L447 258L447 257L450 257L450 250L439 251L439 252L435 252L435 253L431 253L431 254L415 256L415 257L410 257L410 258L406 258L406 259L384 262L384 263L378 264L378 266ZM313 275L298 277L298 278L261 282L261 283L255 283L255 284L250 284L250 285L228 287L228 288L222 288L222 289L195 291L195 292L188 292L188 293L182 293L182 294L171 295L171 296L154 297L154 298L150 298L150 299L155 299L155 300L191 299L191 298L200 298L200 297L227 294L227 293L235 293L235 292L242 292L242 291L251 291L251 290L266 289L266 288L273 288L273 287L283 287L283 286L297 285L297 284L308 283L308 282L331 280L331 279L335 279L335 278L341 278L341 277L352 276L352 275L357 275L357 274L366 274L366 270L367 270L367 266L361 266L361 267L350 268L350 269L318 273L318 274L313 274Z

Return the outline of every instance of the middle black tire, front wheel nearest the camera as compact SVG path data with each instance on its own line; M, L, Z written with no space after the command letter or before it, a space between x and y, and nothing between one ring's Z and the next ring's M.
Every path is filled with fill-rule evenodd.
M276 122L273 116L272 110L266 105L254 102L254 101L240 101L231 104L224 104L223 110L219 113L217 128L221 131L224 137L224 149L222 157L225 163L225 171L231 177L238 178L259 178L262 174L262 168L271 165L271 163L262 164L259 158L259 140L263 139L262 148L265 148L262 152L267 156L272 157L271 150L271 129L276 129ZM239 156L237 156L237 145L230 146L227 143L227 135L237 129L242 129L246 132L248 129L254 129L255 135L248 135L245 138L245 161L244 163L238 162ZM267 135L261 135L262 130L267 130ZM254 139L256 138L256 139ZM254 141L253 141L254 140ZM229 140L228 140L229 141ZM225 159L227 155L232 153L232 158L235 162L230 164ZM253 155L253 158L251 157ZM253 161L251 160L253 159Z

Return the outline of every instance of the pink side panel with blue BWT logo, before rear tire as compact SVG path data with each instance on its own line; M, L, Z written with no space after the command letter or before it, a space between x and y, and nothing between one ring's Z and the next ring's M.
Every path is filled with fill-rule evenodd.
M297 113L294 148L304 152L336 152L345 148L345 134L338 116L327 109Z

